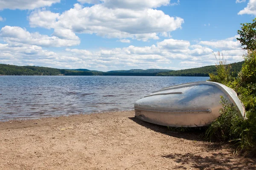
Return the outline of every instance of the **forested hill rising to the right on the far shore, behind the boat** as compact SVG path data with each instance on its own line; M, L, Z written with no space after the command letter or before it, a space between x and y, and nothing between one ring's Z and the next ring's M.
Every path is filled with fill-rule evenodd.
M237 75L242 68L242 62L235 62L230 64L231 65L231 72L233 75ZM169 72L162 72L157 73L156 76L198 76L198 77L208 77L209 73L217 74L217 69L215 65L207 65L200 68L189 68L184 70L177 70L177 71L169 71Z

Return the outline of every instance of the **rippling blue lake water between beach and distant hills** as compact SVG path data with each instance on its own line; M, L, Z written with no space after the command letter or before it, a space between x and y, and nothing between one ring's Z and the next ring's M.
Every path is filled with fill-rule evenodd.
M0 76L0 121L122 111L170 85L209 77Z

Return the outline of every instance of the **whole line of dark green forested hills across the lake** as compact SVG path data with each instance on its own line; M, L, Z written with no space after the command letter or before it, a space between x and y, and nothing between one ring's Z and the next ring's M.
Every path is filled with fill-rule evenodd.
M244 62L231 64L231 72L237 75ZM216 74L216 66L208 65L200 68L185 70L163 70L163 69L132 69L116 71L91 71L88 69L58 69L38 66L17 66L0 64L0 75L64 75L64 76L205 76L209 73Z

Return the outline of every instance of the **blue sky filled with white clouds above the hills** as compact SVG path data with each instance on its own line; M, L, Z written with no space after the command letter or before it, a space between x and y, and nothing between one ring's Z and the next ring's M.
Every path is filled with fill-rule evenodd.
M256 0L0 0L0 64L98 71L198 68L246 54Z

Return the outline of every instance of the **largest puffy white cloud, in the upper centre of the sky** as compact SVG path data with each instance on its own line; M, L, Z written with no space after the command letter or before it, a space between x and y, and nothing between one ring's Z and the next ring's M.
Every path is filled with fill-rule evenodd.
M128 3L128 1L125 2ZM158 1L147 2L158 4ZM160 2L163 3L163 1ZM101 37L135 38L142 41L159 39L157 34L169 33L181 28L183 22L180 17L170 17L156 9L107 8L102 4L85 8L75 4L74 8L62 14L38 10L29 16L32 27L69 29L80 34L95 33Z

